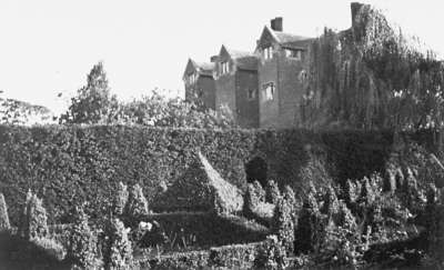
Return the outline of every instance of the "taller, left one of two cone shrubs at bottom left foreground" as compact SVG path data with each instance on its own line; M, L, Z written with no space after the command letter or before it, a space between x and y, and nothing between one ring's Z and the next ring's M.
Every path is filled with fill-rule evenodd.
M88 216L75 208L74 222L70 228L68 260L81 269L94 268L97 239L88 224Z

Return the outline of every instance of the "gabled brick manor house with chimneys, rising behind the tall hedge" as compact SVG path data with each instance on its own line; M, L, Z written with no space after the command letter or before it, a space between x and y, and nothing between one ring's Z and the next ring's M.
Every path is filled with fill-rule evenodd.
M352 3L352 20L359 6ZM222 46L208 63L189 59L183 73L185 100L213 110L229 108L242 128L294 127L313 40L284 32L283 19L272 19L254 51Z

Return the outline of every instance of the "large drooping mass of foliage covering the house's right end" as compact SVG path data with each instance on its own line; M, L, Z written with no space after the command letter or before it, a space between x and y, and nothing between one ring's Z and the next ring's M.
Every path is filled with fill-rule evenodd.
M433 52L361 6L352 28L310 48L304 127L417 130L443 124L444 67Z

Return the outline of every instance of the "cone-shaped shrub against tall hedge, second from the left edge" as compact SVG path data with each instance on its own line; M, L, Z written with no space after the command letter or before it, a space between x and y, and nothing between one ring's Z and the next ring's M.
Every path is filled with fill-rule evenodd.
M27 240L47 237L47 210L43 208L42 200L30 191L27 194L23 212L24 217L21 218L23 223L20 227L21 237Z

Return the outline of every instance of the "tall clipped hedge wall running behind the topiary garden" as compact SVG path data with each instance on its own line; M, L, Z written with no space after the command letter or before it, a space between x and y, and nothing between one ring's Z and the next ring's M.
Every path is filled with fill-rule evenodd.
M246 187L244 166L255 157L266 162L269 179L295 187L311 159L325 160L337 180L382 170L392 137L385 131L0 126L0 192L13 224L28 189L44 198L50 223L68 222L70 208L82 201L90 202L87 211L92 219L104 216L119 181L140 183L155 211L170 204L159 196L186 176L198 151L241 190Z

